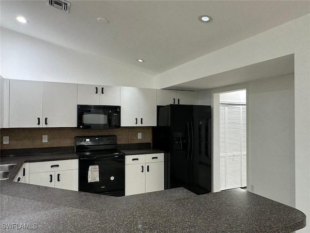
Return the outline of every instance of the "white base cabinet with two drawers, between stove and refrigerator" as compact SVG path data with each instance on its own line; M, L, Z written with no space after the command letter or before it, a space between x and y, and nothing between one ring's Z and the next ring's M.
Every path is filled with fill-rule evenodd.
M125 156L125 196L164 190L164 153Z

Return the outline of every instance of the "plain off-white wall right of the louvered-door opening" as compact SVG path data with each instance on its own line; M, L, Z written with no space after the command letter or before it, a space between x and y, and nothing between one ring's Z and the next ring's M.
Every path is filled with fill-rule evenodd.
M294 75L248 85L249 183L295 207Z

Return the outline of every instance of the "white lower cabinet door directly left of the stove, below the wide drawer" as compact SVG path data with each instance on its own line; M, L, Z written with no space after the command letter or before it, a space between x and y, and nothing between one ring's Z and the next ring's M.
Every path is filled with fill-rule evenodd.
M78 191L78 169L55 171L55 188Z

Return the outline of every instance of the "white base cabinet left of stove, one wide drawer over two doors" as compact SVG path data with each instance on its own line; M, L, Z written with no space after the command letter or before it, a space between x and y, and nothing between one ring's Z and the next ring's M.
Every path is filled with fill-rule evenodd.
M78 159L30 163L29 183L78 191Z

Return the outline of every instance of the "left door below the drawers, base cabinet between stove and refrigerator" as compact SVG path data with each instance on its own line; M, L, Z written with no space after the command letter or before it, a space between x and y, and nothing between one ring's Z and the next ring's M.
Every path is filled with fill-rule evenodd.
M145 192L145 164L125 165L125 196Z

